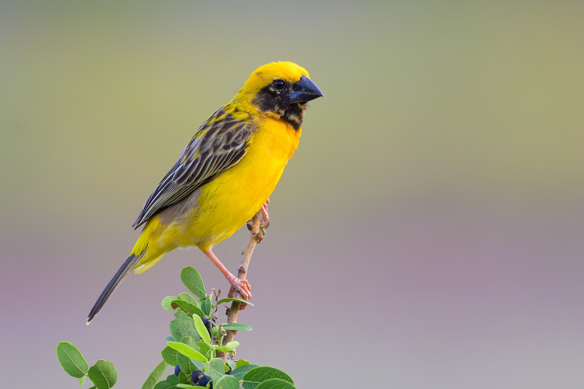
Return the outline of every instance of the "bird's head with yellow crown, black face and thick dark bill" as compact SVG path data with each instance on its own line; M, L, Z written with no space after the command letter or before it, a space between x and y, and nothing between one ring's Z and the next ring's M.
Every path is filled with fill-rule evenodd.
M236 97L259 114L285 120L299 129L307 102L322 97L308 72L294 62L270 62L256 69Z

